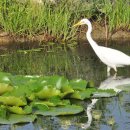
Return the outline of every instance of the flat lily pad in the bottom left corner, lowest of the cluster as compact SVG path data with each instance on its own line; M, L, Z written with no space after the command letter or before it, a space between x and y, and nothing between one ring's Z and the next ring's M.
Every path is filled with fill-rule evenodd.
M7 118L0 117L0 124L16 124L33 122L37 118L36 115L17 115L10 114Z

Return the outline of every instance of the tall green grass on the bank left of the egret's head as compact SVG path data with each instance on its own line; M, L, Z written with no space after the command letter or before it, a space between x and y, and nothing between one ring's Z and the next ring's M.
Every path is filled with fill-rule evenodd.
M90 12L80 9L82 5L70 0L62 0L57 5L45 1L40 5L31 1L4 0L0 1L0 25L16 35L43 33L65 41L75 37L76 30L71 27L80 14Z

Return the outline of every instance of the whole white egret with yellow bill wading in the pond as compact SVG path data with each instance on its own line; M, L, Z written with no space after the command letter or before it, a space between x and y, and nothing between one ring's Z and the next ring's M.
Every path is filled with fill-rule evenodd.
M92 46L93 50L95 51L96 55L104 64L107 65L108 73L110 72L111 68L113 68L115 72L117 72L117 67L130 65L130 57L128 55L112 48L97 45L97 43L91 37L92 24L88 19L82 19L77 24L75 24L74 27L78 25L84 25L84 24L88 26L86 37L90 45Z

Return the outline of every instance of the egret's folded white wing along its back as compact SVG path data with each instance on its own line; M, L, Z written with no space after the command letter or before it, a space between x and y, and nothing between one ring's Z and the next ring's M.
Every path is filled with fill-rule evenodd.
M111 62L115 65L129 65L130 57L125 53L112 49L100 46L100 55L105 58L108 62Z

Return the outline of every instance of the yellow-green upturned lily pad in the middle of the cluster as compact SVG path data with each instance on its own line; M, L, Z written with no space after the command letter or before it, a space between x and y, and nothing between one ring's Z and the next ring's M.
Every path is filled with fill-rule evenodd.
M39 99L48 99L53 96L60 96L60 94L61 94L61 92L57 88L52 87L52 86L45 86L45 87L43 87L43 89L41 91L39 91L35 95Z

